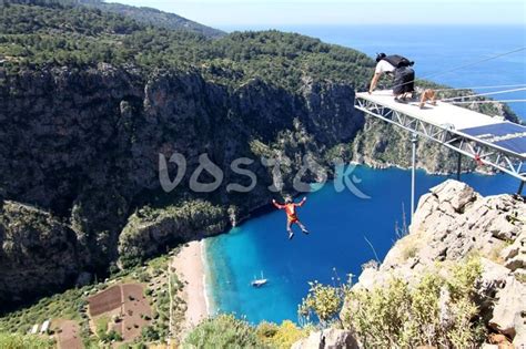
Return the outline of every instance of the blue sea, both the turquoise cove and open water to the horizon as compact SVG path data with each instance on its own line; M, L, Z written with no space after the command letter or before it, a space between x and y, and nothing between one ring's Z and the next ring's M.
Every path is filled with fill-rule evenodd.
M370 55L380 51L402 53L417 62L421 76L526 45L524 27L466 27L462 31L452 27L402 25L279 29L352 47ZM432 80L453 86L526 83L526 51ZM523 91L503 99L524 99L525 94ZM512 106L526 119L523 104ZM356 187L371 198L358 198L350 191L337 193L331 183L308 194L299 213L312 232L308 236L296 230L290 242L284 213L269 206L269 213L209 239L206 283L213 310L235 312L251 322L295 320L307 281L333 283L347 274L357 276L362 264L382 260L397 238L395 227L403 224L404 212L408 219L411 172L357 166L354 174L361 179ZM417 196L446 178L418 171ZM463 181L483 195L512 193L518 187L517 181L506 175L467 174ZM259 289L251 287L250 281L261 273L269 284Z

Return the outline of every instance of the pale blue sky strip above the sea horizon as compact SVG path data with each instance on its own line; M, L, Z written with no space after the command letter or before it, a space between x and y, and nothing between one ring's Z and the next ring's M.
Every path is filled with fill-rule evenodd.
M117 0L213 27L526 24L524 0Z

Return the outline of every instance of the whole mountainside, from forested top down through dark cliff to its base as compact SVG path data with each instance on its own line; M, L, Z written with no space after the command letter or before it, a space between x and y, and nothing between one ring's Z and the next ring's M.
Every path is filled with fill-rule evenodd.
M304 156L327 168L336 157L407 165L407 134L354 109L373 66L358 51L294 33L213 39L77 2L6 2L0 301L52 294L224 232L294 194ZM160 156L173 153L188 171L165 193ZM437 145L421 142L418 153L421 167L449 168ZM211 194L188 185L201 154L224 171ZM239 157L254 160L257 183L246 194L226 189L246 184L230 167ZM261 157L280 160L280 193L267 189L273 173Z

